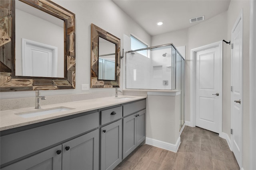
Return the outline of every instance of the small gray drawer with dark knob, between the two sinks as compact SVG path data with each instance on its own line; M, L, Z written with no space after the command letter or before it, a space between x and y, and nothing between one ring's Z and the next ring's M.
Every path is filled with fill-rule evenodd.
M122 106L100 111L101 125L122 118Z

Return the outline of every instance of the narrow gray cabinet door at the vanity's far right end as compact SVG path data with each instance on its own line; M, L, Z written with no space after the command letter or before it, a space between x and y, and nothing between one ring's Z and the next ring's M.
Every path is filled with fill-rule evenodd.
M146 139L146 110L139 111L136 117L137 124L137 137L136 146L139 146Z

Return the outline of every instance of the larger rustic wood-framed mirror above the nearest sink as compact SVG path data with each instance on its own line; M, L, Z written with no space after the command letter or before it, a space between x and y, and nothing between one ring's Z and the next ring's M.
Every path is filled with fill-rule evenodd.
M0 8L0 91L75 88L75 14L50 0Z

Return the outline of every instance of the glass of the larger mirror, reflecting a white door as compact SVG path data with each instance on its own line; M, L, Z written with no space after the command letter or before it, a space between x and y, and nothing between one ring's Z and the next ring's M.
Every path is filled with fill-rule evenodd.
M15 1L15 8L15 76L63 78L64 21L24 2Z

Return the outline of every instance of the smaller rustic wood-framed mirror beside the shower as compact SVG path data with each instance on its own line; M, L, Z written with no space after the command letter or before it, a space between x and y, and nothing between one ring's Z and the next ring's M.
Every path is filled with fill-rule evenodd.
M120 87L120 39L91 24L91 88Z

